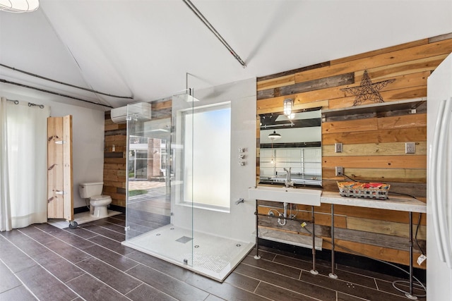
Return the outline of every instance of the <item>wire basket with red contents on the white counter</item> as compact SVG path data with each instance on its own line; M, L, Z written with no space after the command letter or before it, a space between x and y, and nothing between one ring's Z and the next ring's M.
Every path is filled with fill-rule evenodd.
M339 194L343 197L387 199L390 187L384 183L338 182Z

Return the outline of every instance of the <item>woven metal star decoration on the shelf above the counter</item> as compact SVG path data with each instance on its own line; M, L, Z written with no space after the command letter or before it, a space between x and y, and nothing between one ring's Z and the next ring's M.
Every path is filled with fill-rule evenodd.
M340 90L356 95L353 106L362 104L367 99L372 102L383 102L383 97L381 97L379 90L383 89L383 87L386 87L386 85L394 82L395 80L396 79L383 80L382 82L371 82L369 75L367 74L367 70L364 70L361 85L357 87L343 88Z

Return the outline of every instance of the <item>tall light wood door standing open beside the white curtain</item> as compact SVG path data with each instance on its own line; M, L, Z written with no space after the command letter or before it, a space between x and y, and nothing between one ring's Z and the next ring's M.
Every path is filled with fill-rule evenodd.
M47 118L47 218L73 221L72 116Z

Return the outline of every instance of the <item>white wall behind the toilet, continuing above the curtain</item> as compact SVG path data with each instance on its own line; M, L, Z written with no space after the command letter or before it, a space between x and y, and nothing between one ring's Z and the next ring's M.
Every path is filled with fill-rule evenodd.
M1 88L1 86L0 86ZM73 207L85 206L85 199L78 195L78 183L102 181L104 170L104 109L88 109L65 104L66 99L54 102L28 95L18 95L0 90L0 96L50 106L50 116L72 115L73 134ZM76 102L76 101L74 101ZM45 142L43 142L45 143Z

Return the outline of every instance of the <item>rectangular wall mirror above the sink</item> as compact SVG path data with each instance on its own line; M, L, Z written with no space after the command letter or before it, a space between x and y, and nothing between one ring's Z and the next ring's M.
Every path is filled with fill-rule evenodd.
M295 186L321 186L321 107L293 113L260 115L259 183L285 185L290 170Z

